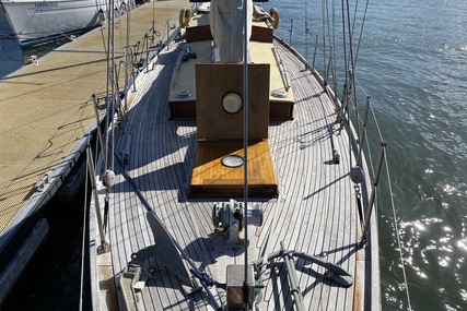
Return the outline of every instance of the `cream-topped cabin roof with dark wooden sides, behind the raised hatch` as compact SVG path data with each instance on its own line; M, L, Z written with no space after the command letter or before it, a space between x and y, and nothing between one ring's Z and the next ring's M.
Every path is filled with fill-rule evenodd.
M186 26L186 45L179 51L171 83L168 98L172 120L195 120L197 89L195 68L199 63L212 63L215 58L214 41L209 26L209 13L197 13ZM253 22L248 43L248 60L252 64L269 64L269 118L293 119L295 103L289 85L288 73L281 67L281 56L272 45L273 28L265 22Z

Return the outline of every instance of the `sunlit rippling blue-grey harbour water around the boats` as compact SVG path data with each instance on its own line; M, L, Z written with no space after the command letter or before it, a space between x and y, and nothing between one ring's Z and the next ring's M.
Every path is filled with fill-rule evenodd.
M267 8L280 8L278 34L285 40L293 19L292 45L308 59L315 29L320 28L313 16L320 14L322 2L308 1L306 10L302 0L267 3ZM396 234L401 239L412 309L467 310L466 27L465 0L369 3L355 74L372 97L387 143L398 223L396 232L390 196L382 194L384 310L409 306ZM5 29L8 23L0 12L0 76L20 68L28 56L40 53L37 48L22 51L16 41L3 36Z

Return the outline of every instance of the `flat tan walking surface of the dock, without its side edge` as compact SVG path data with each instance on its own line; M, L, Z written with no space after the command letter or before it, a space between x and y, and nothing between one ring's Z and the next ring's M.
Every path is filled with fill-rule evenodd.
M132 11L130 45L151 35L153 19L161 34L155 43L163 40L186 7L187 0L156 1ZM0 232L36 192L35 183L65 165L63 157L95 121L91 96L106 92L106 36L107 24L0 80ZM115 36L118 64L126 15L116 22Z

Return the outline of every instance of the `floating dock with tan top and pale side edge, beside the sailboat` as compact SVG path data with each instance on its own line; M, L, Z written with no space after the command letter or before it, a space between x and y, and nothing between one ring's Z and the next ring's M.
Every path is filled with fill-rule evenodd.
M188 0L149 2L131 11L128 32L127 15L115 22L115 63L121 79L127 33L133 52L148 51L166 39L170 29L178 25L179 11L186 8ZM40 208L69 177L96 129L93 95L100 104L105 103L107 34L105 24L0 80L3 282L11 282L4 272L21 247L22 239L16 237L26 239L33 230L42 217ZM8 290L3 282L0 302Z

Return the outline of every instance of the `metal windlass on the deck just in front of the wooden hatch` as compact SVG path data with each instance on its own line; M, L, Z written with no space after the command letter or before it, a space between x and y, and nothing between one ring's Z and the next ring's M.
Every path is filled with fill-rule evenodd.
M227 244L235 247L242 243L238 232L242 231L245 217L243 203L231 199L229 202L215 203L212 208L212 224L218 232L229 234ZM248 225L262 225L262 211L259 204L247 206Z

